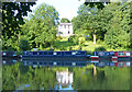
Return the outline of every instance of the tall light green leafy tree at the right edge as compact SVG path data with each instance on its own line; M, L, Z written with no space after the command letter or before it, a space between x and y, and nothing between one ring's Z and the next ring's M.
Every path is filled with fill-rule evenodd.
M105 36L106 44L111 48L130 47L130 3L112 3L116 10L112 12L113 18L109 23L109 30ZM125 14L128 13L128 14Z

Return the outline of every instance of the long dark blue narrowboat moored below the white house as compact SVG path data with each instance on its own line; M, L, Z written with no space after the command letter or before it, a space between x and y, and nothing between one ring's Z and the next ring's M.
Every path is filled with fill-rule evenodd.
M87 61L86 50L69 51L24 51L22 60L35 59L44 61Z

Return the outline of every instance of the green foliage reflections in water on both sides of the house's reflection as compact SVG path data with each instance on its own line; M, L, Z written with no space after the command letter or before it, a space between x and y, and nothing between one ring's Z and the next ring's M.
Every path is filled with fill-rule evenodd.
M37 67L23 66L22 64L2 66L2 88L6 90L54 90L56 88L56 71L73 72L74 90L129 90L130 68L128 67L97 67L94 77L94 65L86 67ZM123 72L123 73L122 73ZM23 88L23 84L30 84Z

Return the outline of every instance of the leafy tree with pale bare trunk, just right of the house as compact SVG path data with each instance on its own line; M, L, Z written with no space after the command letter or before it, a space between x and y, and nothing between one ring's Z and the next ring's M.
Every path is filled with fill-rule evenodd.
M89 5L82 4L79 7L78 10L79 15L76 19L73 19L74 27L79 28L79 32L87 34L92 33L94 44L96 44L97 32L100 31L100 14L98 13L99 10L97 9L97 7L90 8Z

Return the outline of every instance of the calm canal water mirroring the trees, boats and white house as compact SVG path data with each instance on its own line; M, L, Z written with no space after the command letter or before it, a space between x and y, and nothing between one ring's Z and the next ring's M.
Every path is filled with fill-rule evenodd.
M94 67L86 61L73 64L2 61L2 90L130 90L130 67Z

